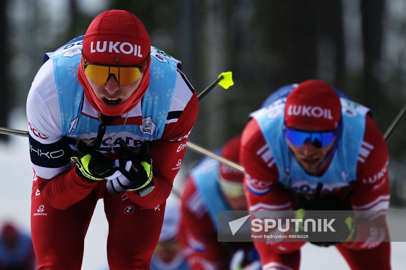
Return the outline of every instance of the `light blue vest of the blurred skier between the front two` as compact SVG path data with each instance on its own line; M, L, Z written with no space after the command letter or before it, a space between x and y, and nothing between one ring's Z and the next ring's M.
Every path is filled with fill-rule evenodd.
M206 158L190 172L216 231L217 211L231 210L220 191L218 166L218 161Z

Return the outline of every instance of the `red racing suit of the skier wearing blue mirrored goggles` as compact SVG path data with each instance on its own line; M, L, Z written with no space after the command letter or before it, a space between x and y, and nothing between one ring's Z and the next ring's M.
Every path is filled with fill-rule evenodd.
M244 166L244 188L250 210L294 209L295 199L279 184L279 172L257 120L251 119L242 134L241 163ZM328 168L329 161L320 169ZM367 114L365 135L359 151L357 180L353 182L350 203L353 210L387 210L389 207L389 174L387 145L374 120ZM255 191L255 192L253 192ZM345 192L344 189L341 192ZM384 222L384 221L382 221ZM371 241L336 245L352 269L390 269L390 243ZM374 238L372 238L374 239ZM255 242L263 269L299 269L300 247L304 242L280 242L270 245Z

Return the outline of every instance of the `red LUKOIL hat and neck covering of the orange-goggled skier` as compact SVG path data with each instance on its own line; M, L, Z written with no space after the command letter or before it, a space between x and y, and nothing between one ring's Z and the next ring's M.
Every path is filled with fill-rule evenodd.
M83 39L85 61L95 64L142 66L150 50L151 42L143 23L132 13L122 10L109 10L99 14L91 22ZM120 62L115 62L115 58L120 58ZM123 115L134 109L149 86L151 58L148 59L140 86L127 101L114 109L106 108L102 101L97 99L81 63L78 81L92 107L107 116Z

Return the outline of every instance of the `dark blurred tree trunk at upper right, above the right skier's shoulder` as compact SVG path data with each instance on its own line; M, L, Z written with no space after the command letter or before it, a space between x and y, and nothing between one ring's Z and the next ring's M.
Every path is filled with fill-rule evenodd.
M384 124L385 94L378 79L378 64L382 56L382 18L384 14L384 0L361 0L362 36L364 49L363 95L366 106L374 106L374 114L378 126ZM381 129L382 130L382 129Z

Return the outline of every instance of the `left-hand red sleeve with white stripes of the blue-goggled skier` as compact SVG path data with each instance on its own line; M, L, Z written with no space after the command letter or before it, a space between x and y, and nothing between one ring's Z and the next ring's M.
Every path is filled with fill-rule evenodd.
M278 169L258 123L251 119L242 133L240 161L249 210L288 210L291 198L282 191Z

